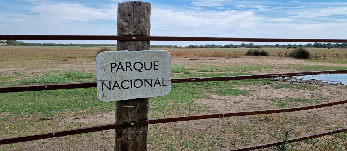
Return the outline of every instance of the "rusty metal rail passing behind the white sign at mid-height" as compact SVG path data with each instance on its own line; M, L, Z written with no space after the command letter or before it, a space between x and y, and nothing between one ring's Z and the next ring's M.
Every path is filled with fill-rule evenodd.
M262 79L262 78L277 78L277 77L293 77L293 76L300 76L300 75L333 74L333 73L347 73L347 70L237 75L237 76L225 76L225 77L172 78L171 83L246 80L246 79ZM42 91L42 90L60 90L60 89L77 89L77 88L95 88L95 87L96 87L96 82L20 85L20 86L11 86L11 87L0 87L0 93L24 92L24 91Z

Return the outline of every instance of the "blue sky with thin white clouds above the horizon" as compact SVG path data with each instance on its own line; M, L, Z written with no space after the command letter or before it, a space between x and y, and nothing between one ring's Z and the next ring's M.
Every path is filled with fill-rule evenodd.
M0 34L117 35L117 6L118 2L125 1L4 0L0 2ZM296 39L347 37L347 0L144 2L151 3L151 36ZM116 44L116 41L25 42ZM240 43L242 42L151 41L151 44L178 46Z

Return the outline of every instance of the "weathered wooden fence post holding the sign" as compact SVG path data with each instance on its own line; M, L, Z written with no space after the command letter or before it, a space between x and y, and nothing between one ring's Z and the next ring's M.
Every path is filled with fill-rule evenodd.
M117 35L150 36L151 3L141 1L118 3L117 18ZM149 49L150 41L117 41L117 50ZM116 107L124 108L116 108L115 123L148 120L148 105L148 98L116 101ZM147 130L148 125L116 129L115 150L147 150Z

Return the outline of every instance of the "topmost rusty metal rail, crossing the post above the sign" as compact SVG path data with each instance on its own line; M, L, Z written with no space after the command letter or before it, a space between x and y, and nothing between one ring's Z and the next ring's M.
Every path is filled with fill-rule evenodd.
M135 39L133 39L135 37ZM0 35L0 40L125 40L125 41L249 41L249 42L347 42L347 39L224 38L105 35Z

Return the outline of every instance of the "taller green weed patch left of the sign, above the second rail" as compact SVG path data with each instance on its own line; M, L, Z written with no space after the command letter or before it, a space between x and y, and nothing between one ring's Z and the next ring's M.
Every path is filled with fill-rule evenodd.
M66 71L63 71L58 74L52 74L52 73L46 73L45 75L39 77L39 78L26 78L23 79L23 83L25 85L28 84L52 84L51 82L54 83L66 83L65 81L75 81L78 79L85 79L85 78L91 78L93 77L93 73L88 73L88 72L83 72L81 71L76 71L74 69L68 69ZM63 82L57 82L57 81L63 81ZM34 83L30 83L34 82ZM39 82L39 83L35 83Z

